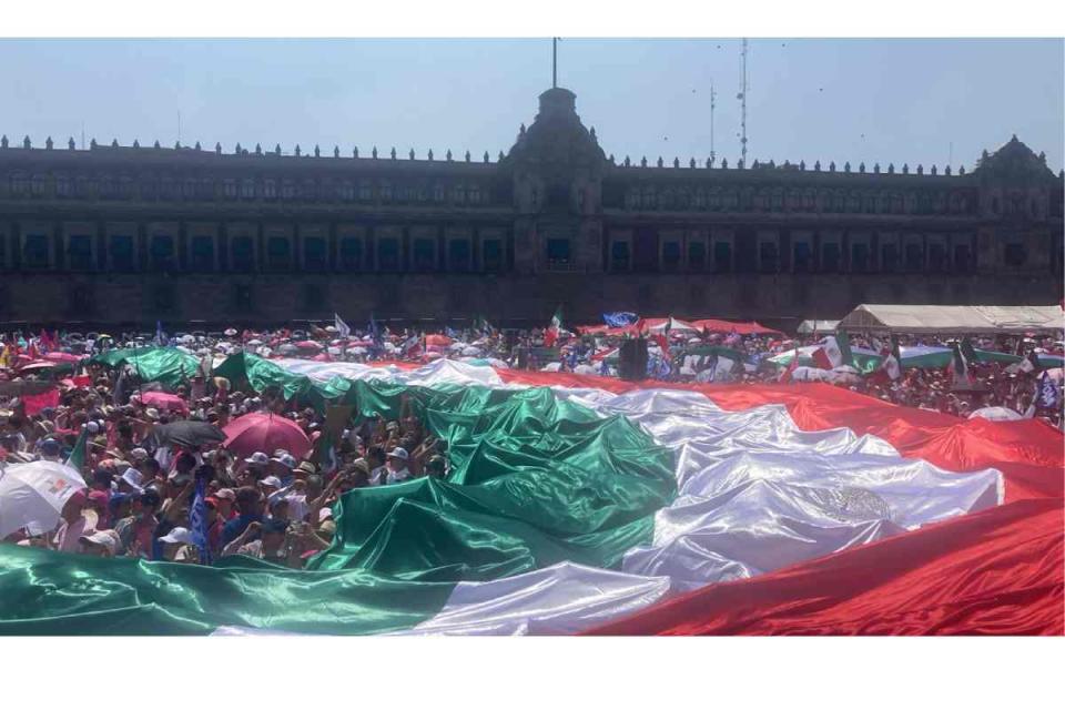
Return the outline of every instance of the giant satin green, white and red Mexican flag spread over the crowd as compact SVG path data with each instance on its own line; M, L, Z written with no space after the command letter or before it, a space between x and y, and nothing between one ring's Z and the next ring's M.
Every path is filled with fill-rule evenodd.
M1063 456L828 385L688 386L438 361L263 361L255 388L448 443L354 490L308 570L0 546L10 633L1063 633Z

